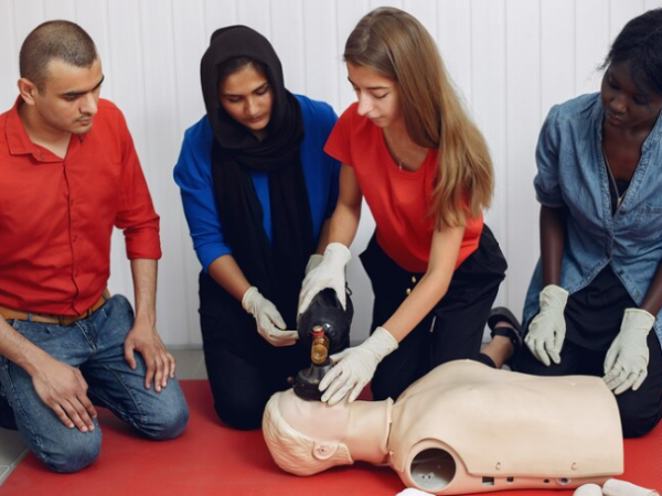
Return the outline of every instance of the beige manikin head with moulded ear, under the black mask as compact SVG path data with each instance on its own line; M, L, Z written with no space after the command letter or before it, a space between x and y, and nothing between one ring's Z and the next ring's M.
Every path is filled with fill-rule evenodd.
M296 475L312 475L354 460L342 442L350 411L346 401L329 407L293 391L276 392L265 409L263 432L276 464Z

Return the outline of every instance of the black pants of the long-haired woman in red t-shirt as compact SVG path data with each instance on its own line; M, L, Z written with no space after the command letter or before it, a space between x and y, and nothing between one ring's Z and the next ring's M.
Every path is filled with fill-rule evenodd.
M373 287L374 330L383 325L424 276L395 263L373 236L361 261ZM438 365L456 359L494 363L480 354L485 322L505 278L506 263L492 231L484 226L478 249L455 271L446 295L377 366L372 380L375 400L396 399Z

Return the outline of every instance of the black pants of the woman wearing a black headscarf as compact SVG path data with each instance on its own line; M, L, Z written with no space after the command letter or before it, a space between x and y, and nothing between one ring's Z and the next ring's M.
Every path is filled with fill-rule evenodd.
M255 320L209 274L200 274L200 323L214 408L234 429L257 429L267 401L310 365L310 349L275 347Z

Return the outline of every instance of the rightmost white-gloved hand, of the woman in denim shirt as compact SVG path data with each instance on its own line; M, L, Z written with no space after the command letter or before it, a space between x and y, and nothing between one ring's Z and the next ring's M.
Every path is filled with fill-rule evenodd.
M605 358L605 382L615 395L633 391L648 375L648 333L655 317L642 309L627 309L621 328Z

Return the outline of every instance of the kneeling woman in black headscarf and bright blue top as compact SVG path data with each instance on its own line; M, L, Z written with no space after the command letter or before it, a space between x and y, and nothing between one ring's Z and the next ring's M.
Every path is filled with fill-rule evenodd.
M186 130L174 179L197 257L215 409L258 428L268 398L308 365L296 346L305 273L327 244L339 164L322 151L337 116L289 93L270 43L217 30L201 63L206 116Z

